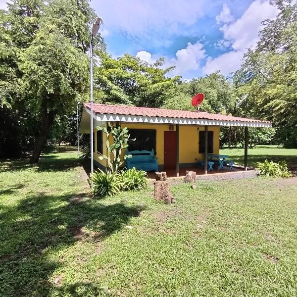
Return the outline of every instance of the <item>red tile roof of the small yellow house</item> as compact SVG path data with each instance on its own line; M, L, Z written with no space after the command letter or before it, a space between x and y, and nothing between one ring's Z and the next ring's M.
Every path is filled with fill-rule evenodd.
M90 109L90 103L84 103L84 106ZM173 110L163 108L148 108L136 107L127 105L107 105L94 103L93 110L99 114L120 114L120 115L138 115L148 117L168 117L168 118L183 118L183 119L205 119L215 121L239 121L249 123L270 123L255 119L228 116L216 113L208 113L204 111L187 111L187 110Z

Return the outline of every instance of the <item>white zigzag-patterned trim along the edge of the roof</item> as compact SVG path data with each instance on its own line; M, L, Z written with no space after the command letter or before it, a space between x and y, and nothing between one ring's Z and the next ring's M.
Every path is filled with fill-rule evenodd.
M91 114L90 109L85 108L86 112ZM171 117L147 117L139 115L122 115L122 114L100 114L94 113L94 119L98 122L127 122L127 123L147 123L147 124L180 124L180 125L209 125L209 126L236 126L236 127L272 127L271 122L243 122L243 121L217 121L206 119L187 119Z

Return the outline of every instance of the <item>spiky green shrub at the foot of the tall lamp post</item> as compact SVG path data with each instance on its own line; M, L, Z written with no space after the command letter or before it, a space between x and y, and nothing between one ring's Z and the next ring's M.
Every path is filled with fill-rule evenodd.
M104 172L100 169L90 174L90 180L93 183L92 195L104 197L118 194L122 188L119 177L118 173Z

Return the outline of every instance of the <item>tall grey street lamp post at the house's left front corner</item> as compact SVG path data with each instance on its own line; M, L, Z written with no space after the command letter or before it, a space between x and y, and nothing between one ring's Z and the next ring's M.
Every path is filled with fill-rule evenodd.
M102 20L97 17L94 20L92 33L91 33L91 41L90 41L90 83L91 83L91 98L90 98L90 105L91 105L91 173L94 172L94 127L93 127L93 38L98 33Z

